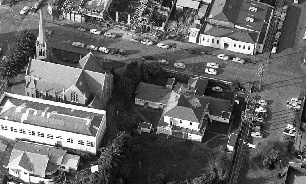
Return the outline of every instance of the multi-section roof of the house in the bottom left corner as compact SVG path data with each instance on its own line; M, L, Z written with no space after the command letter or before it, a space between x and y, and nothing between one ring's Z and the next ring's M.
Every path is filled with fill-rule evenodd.
M20 141L12 150L7 168L20 166L32 175L45 176L58 165L75 165L80 156L66 154L66 150Z

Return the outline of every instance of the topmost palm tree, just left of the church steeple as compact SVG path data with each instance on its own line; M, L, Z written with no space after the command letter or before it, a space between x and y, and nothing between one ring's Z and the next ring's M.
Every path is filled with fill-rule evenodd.
M35 50L35 40L36 36L34 33L30 32L29 29L18 31L18 33L15 35L15 42L21 41L24 43L25 46L28 47L30 53Z

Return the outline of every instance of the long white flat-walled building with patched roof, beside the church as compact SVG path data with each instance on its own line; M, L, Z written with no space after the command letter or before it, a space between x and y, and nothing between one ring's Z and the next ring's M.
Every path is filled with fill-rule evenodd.
M106 131L106 111L4 93L0 134L96 154Z

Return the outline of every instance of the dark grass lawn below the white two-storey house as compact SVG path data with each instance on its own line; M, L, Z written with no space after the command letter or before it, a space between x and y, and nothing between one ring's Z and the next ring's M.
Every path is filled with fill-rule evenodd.
M199 177L212 158L202 144L185 139L155 134L141 134L140 153L133 158L130 183L144 184L163 173L179 181Z

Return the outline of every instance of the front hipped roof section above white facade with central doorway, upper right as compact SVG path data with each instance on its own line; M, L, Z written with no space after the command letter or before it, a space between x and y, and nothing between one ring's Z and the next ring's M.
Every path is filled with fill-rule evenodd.
M205 29L201 34L211 35L216 37L228 37L241 42L256 43L259 32L242 30L237 28L227 28L214 24L205 23Z

